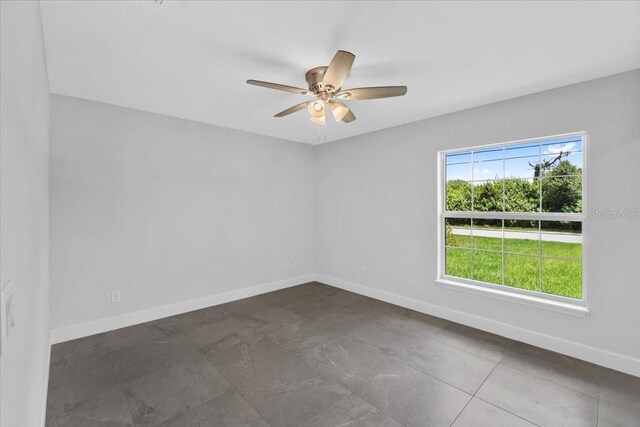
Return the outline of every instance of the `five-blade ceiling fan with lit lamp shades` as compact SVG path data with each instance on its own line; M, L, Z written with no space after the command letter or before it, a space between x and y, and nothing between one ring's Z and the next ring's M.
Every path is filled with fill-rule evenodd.
M260 80L247 80L247 83L312 96L314 99L287 108L274 117L288 116L291 113L306 108L311 116L311 121L319 125L325 124L325 110L327 107L331 110L336 121L349 123L356 119L356 116L354 116L349 107L342 102L343 100L361 101L365 99L390 98L392 96L402 96L407 93L406 86L361 87L343 90L342 84L349 75L355 58L356 56L351 52L339 50L328 67L316 67L307 71L305 79L307 80L309 89L263 82Z

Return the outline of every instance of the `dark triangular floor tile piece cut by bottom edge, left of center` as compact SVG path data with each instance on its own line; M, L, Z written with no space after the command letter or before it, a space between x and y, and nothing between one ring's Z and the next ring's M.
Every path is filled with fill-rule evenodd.
M269 424L235 390L204 402L158 427L269 427Z

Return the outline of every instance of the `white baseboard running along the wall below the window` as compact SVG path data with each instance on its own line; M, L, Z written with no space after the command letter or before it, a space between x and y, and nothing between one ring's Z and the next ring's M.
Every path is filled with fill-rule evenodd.
M640 359L321 274L315 281L640 377Z

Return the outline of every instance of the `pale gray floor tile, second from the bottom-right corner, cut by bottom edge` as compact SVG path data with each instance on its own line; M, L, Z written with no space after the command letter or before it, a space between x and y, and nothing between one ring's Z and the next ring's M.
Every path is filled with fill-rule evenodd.
M494 369L476 396L539 425L597 424L593 397L504 365Z

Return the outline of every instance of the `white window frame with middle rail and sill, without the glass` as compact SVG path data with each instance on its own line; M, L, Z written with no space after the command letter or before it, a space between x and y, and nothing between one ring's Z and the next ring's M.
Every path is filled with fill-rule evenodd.
M446 194L446 155L453 153L463 153L470 150L482 150L490 147L506 146L511 144L524 144L534 141L544 141L547 139L565 138L580 136L582 138L582 213L556 213L556 212L458 212L445 210ZM586 263L586 235L587 235L587 132L570 132L560 135L550 135L537 138L528 138L515 141L499 142L494 144L476 145L452 150L438 152L438 238L437 238L437 277L438 286L454 289L467 293L484 295L500 300L511 301L519 304L548 309L560 313L572 314L576 316L586 316L589 313L587 306L587 263ZM473 157L471 168L473 171ZM446 218L471 218L471 219L524 219L539 221L579 221L582 223L582 299L569 298L553 294L545 294L538 291L514 288L506 285L498 285L487 282L480 282L472 279L465 279L445 274L445 219Z

